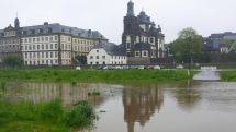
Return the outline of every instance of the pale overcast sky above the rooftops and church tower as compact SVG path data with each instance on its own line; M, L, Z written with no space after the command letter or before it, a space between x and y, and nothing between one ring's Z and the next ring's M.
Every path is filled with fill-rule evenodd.
M121 44L123 16L128 0L0 0L0 28L44 22L60 23L101 32L112 43ZM236 0L133 0L135 14L142 9L162 27L166 43L179 31L193 27L199 34L236 32Z

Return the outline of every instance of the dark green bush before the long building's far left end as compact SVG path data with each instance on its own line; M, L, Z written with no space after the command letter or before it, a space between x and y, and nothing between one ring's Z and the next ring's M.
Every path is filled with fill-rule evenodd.
M20 67L23 65L23 59L19 56L8 56L2 59L2 64L9 65L9 67Z

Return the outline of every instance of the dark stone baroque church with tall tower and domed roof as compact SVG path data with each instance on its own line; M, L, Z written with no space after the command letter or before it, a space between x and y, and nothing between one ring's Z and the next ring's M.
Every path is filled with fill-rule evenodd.
M134 14L134 3L127 3L127 14L124 16L122 47L128 58L162 58L165 57L165 35L161 27L150 21L142 11Z

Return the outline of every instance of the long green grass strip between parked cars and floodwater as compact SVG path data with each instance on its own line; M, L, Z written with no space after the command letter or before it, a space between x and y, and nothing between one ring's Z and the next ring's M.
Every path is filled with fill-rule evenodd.
M135 82L186 81L186 70L9 70L0 71L1 81L48 82Z

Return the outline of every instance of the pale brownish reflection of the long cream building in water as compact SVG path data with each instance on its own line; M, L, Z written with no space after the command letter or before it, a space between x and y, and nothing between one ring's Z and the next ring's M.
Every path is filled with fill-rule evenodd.
M108 94L106 84L76 84L70 83L25 83L20 88L8 88L8 97L13 100L30 100L34 104L61 99L64 106L71 106L79 100L89 100L94 106L101 105ZM89 96L88 93L98 92L100 96Z

